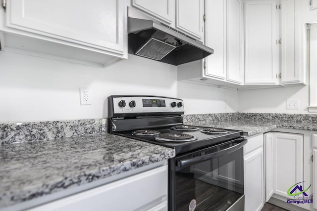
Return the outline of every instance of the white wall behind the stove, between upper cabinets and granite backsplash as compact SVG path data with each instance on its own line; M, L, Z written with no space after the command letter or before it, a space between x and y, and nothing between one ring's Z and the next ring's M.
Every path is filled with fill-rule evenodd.
M91 88L92 105L80 105L80 87ZM176 66L130 54L98 68L0 51L0 122L105 118L107 96L114 94L184 98L186 114L237 110L227 100L236 91L178 84Z

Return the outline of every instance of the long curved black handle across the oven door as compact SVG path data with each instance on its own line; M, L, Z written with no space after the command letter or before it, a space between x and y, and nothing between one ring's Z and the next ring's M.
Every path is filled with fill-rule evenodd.
M218 157L223 156L223 155L228 155L228 154L240 149L241 147L243 147L248 142L248 140L244 139L244 138L238 138L236 140L242 140L242 141L239 144L236 144L236 145L234 145L232 147L220 150L218 152L214 152L214 153L211 153L211 154L208 154L208 155L194 157L194 158L184 158L184 159L182 159L182 157L180 157L178 159L176 158L175 159L176 160L176 166L178 168L183 168L183 167L191 166L193 164L201 163L203 161L210 160L212 158L218 158Z

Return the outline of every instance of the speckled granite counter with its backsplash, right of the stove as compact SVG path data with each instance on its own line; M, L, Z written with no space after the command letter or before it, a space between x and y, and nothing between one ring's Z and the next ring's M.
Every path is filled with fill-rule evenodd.
M243 130L244 135L255 135L274 128L317 130L317 115L223 113L184 115L185 125Z

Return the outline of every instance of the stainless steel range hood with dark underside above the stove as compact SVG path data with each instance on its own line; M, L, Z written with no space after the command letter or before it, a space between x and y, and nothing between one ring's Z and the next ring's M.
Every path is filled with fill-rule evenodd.
M128 7L128 53L180 65L203 59L213 53L213 49Z

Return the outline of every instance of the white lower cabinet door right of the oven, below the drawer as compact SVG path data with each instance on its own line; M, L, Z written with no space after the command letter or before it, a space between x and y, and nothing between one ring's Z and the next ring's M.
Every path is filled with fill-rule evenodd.
M263 148L246 156L244 165L245 211L261 211L264 206Z

